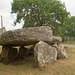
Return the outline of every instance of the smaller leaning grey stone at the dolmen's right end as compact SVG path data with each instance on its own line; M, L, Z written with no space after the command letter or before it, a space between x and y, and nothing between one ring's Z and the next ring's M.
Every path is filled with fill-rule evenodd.
M58 44L58 45L54 44L53 46L57 49L57 58L58 59L68 58L63 45L61 45L61 44Z

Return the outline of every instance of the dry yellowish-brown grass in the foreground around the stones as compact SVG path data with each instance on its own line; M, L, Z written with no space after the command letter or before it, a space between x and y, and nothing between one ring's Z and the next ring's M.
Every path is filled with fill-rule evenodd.
M37 68L33 57L9 65L0 63L0 75L75 75L75 48L65 49L68 59L47 63L45 68Z

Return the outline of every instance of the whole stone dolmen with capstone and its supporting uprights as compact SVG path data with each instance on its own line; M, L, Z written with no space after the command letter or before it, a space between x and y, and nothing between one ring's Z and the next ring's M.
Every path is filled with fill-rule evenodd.
M39 67L57 59L67 58L61 37L53 36L49 26L30 27L7 31L0 36L1 61L8 63L33 54ZM19 50L17 50L19 46ZM31 46L26 48L25 46Z

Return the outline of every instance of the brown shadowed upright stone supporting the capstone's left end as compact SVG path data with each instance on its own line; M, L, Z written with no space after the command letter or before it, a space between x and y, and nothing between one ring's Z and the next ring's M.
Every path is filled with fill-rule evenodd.
M1 52L1 61L4 63L8 63L14 61L17 58L17 49L9 46L3 46Z

